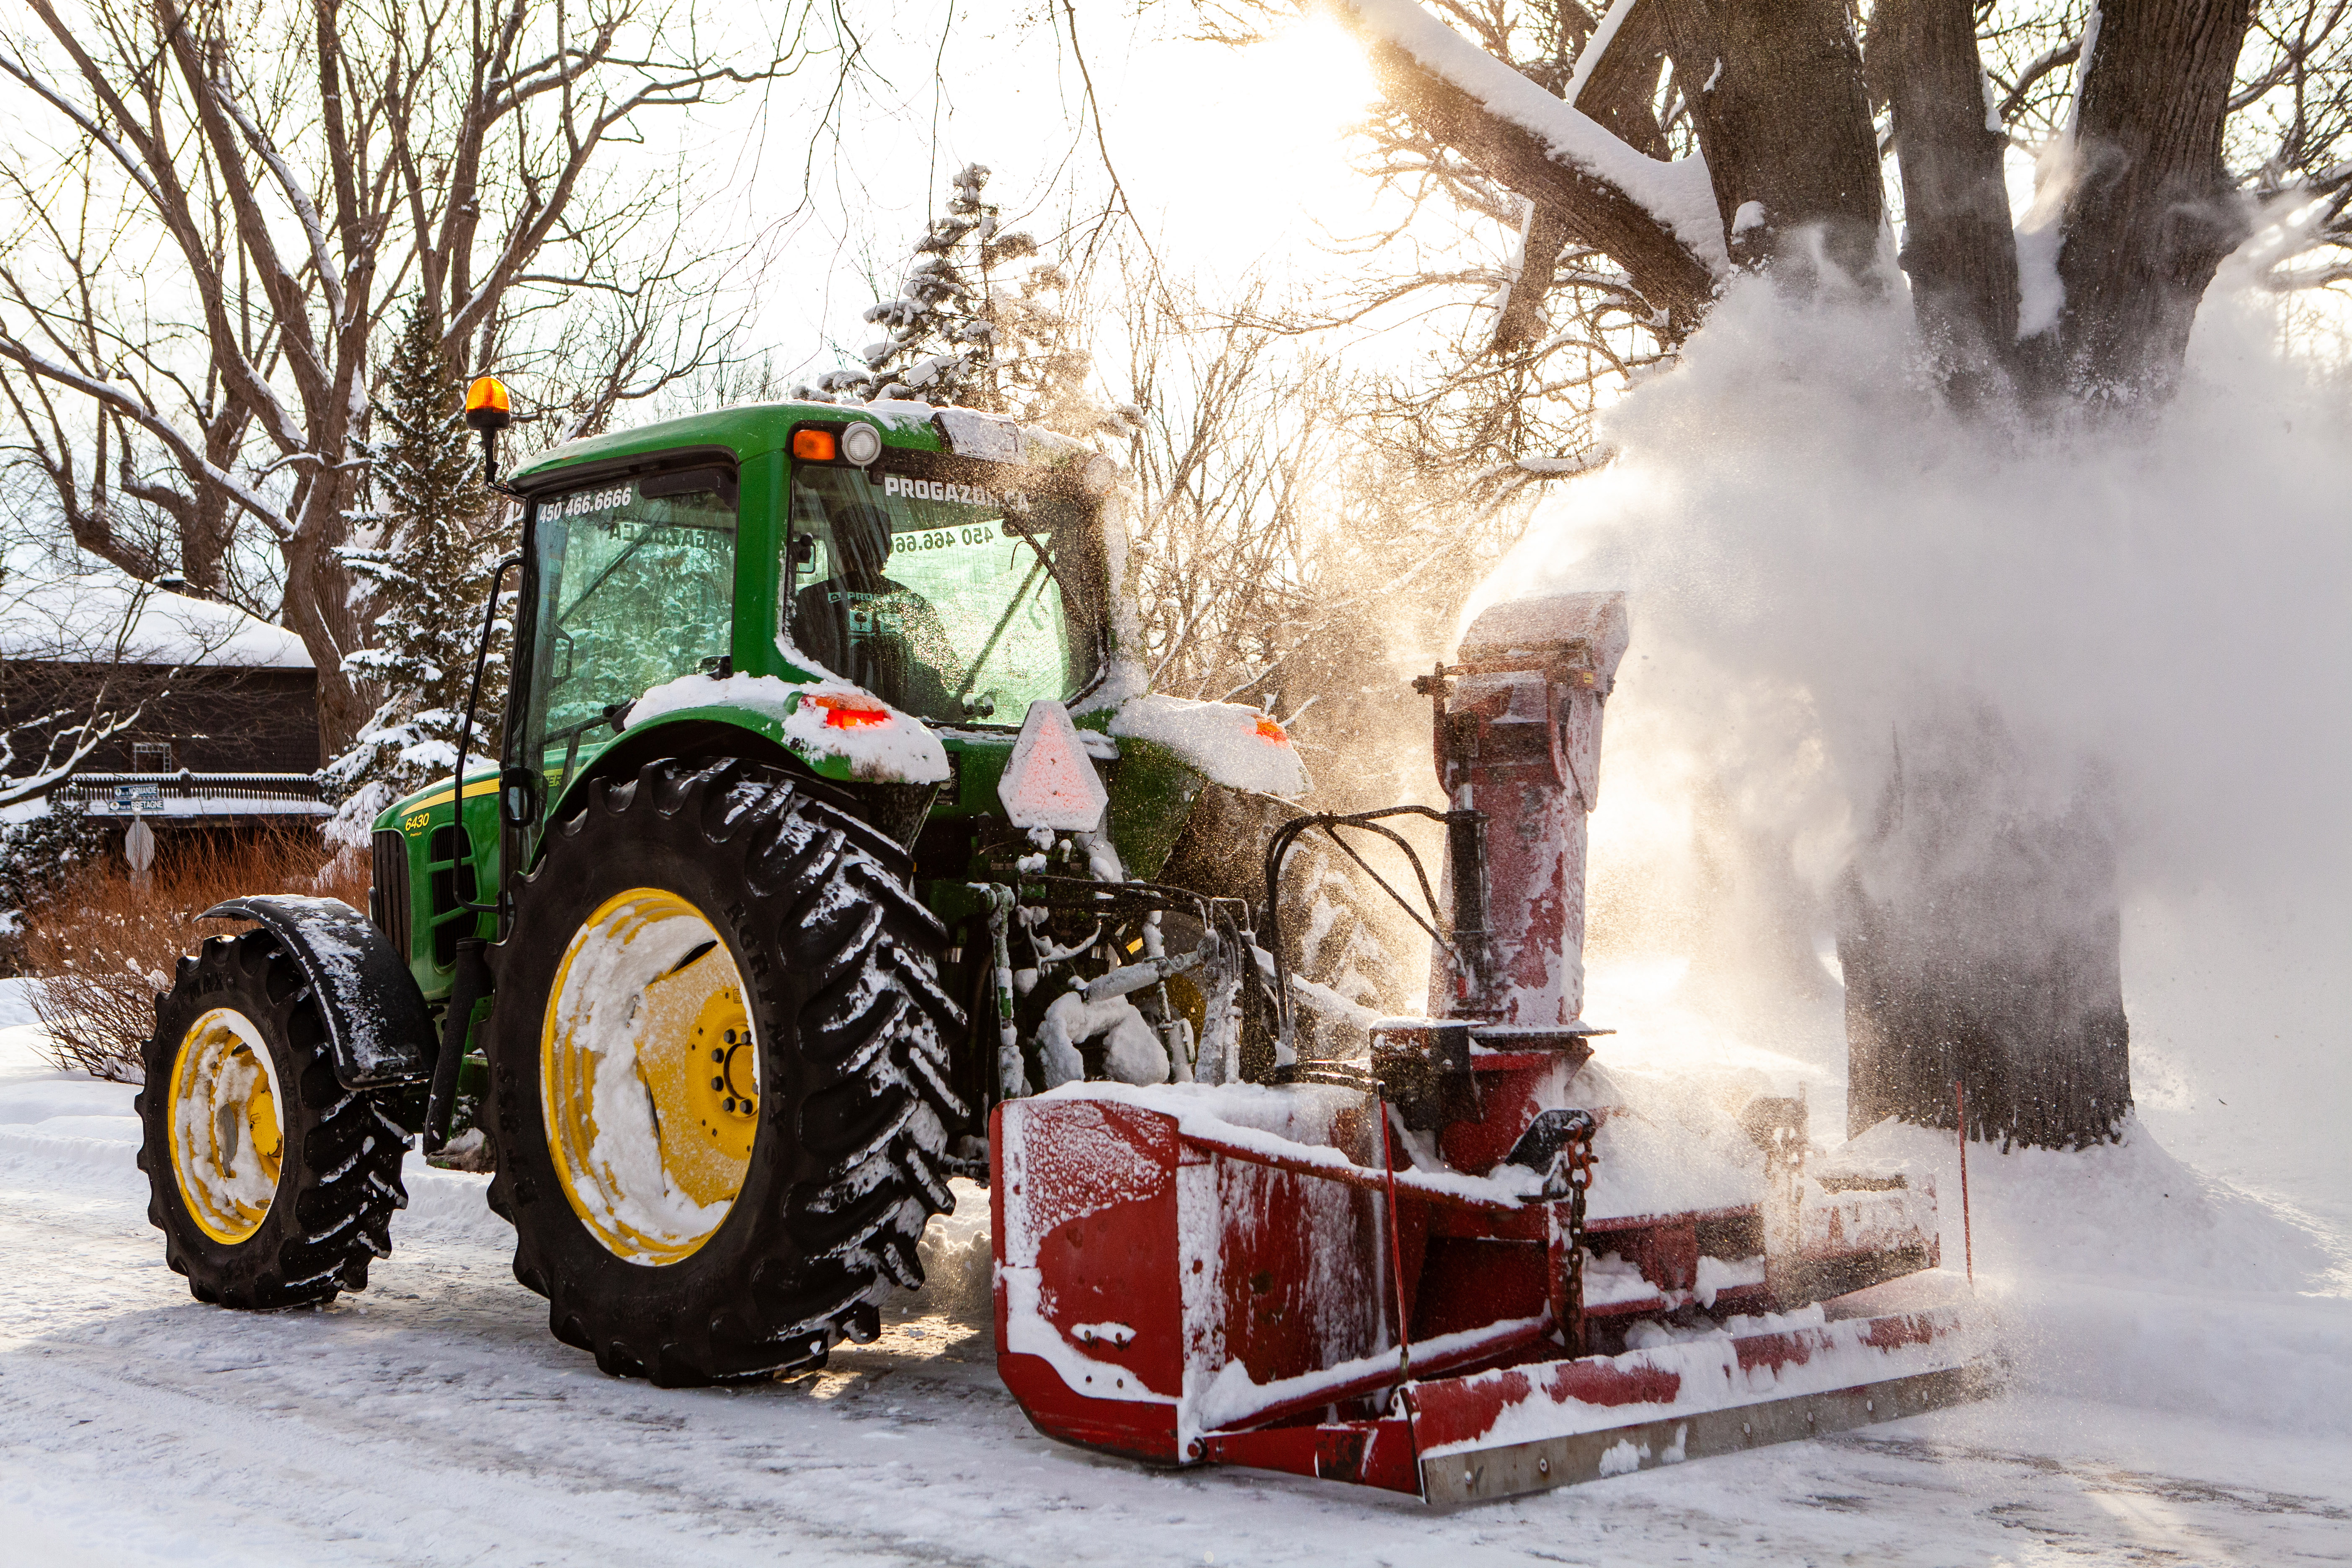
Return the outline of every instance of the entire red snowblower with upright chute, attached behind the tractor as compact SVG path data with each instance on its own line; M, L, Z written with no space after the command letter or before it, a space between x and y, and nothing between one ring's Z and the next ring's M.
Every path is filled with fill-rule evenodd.
M1625 639L1623 595L1489 609L1416 682L1449 809L1272 835L1268 922L1301 837L1409 856L1390 820L1444 825L1416 912L1435 1016L1303 1056L1312 987L1265 931L1265 1081L1065 1084L995 1110L997 1366L1042 1432L1468 1502L1980 1392L1959 1309L1922 1276L1933 1190L1809 1168L1802 1100L1628 1093L1592 1058L1585 816Z

